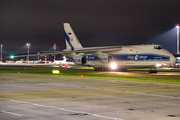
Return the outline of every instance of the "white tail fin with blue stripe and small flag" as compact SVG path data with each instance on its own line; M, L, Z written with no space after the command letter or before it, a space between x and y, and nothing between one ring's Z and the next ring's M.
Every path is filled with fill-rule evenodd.
M65 41L66 41L66 49L75 50L76 48L82 48L81 43L79 42L76 34L72 30L69 23L64 23L64 32L65 32Z

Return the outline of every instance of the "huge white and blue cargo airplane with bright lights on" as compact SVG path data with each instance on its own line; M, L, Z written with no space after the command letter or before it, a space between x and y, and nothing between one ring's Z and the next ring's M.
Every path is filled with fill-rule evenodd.
M157 44L82 47L70 24L63 23L63 26L66 49L41 55L62 54L71 58L75 65L93 67L95 71L149 68L149 73L157 73L156 68L171 66L176 60Z

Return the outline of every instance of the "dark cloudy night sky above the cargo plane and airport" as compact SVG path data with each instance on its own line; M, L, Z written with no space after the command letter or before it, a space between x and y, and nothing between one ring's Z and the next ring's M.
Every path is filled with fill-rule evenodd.
M0 44L8 53L65 49L68 22L84 47L161 44L176 53L180 0L1 0ZM50 49L51 48L51 49Z

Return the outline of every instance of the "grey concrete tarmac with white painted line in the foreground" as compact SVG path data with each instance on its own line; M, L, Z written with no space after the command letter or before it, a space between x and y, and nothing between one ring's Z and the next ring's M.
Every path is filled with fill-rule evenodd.
M179 120L180 85L0 73L0 120Z

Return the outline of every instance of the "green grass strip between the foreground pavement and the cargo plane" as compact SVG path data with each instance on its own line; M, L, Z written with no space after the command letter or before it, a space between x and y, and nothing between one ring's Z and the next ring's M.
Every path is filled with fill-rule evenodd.
M52 70L59 70L59 74L52 74ZM139 73L113 73L113 72L94 72L85 71L83 69L67 69L67 68L44 68L44 69L0 69L1 73L24 73L39 75L59 75L68 77L97 78L109 80L126 80L139 82L180 84L180 76L178 75L152 75Z

